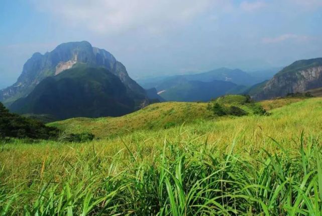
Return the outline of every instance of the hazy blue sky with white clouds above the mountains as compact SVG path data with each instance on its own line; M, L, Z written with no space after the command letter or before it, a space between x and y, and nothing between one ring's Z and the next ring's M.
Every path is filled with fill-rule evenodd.
M1 0L0 89L34 52L110 51L134 79L322 57L322 0Z

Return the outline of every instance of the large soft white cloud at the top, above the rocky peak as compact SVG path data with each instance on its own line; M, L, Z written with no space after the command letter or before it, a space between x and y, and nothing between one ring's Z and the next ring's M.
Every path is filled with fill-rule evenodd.
M37 7L69 26L83 26L98 33L143 29L159 33L184 24L224 0L34 0Z

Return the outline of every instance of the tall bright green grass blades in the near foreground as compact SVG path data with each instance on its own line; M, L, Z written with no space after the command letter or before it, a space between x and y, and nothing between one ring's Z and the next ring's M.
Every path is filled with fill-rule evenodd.
M320 139L298 138L298 149L266 150L254 157L235 152L235 139L224 153L206 141L164 140L147 160L140 149L114 156L94 146L60 158L63 176L40 173L27 186L6 182L0 195L2 215L321 215ZM263 157L262 157L263 156ZM48 178L51 176L51 178ZM26 184L26 182L23 182ZM35 187L36 186L36 187ZM37 189L38 188L38 189Z

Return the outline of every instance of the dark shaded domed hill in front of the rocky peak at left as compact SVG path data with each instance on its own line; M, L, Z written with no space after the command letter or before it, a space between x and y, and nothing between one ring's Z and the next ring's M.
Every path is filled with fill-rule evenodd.
M84 64L45 78L27 97L15 101L10 110L56 119L121 116L135 111L139 99L114 73Z

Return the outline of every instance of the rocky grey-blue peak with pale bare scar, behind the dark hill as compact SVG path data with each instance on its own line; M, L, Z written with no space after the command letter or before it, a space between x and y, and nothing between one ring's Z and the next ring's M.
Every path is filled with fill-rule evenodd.
M128 95L135 98L137 107L147 104L145 90L129 77L125 66L110 52L92 47L87 41L63 43L43 55L33 54L24 64L17 82L0 91L0 101L9 105L26 97L45 78L57 76L79 64L106 68L125 85Z

